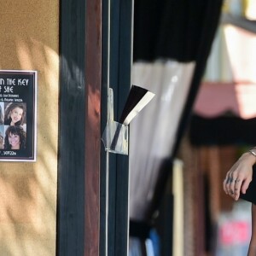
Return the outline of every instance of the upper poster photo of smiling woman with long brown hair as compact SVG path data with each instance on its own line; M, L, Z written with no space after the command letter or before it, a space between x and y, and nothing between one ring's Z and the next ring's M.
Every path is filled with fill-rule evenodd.
M26 104L9 103L4 111L4 125L24 125L26 123Z

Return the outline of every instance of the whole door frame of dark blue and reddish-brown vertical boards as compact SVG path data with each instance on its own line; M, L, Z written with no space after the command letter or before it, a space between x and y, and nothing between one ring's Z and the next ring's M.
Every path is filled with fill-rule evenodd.
M128 253L128 156L101 137L108 87L118 118L131 86L132 12L132 0L61 1L56 255Z

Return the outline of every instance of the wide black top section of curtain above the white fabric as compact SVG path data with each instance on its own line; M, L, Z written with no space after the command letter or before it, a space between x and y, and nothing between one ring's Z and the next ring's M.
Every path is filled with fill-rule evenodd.
M222 0L135 0L134 61L198 59L201 44L211 44L221 5Z

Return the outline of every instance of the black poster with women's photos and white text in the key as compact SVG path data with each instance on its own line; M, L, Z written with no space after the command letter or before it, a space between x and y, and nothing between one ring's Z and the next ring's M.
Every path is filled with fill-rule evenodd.
M0 161L36 160L37 71L0 70Z

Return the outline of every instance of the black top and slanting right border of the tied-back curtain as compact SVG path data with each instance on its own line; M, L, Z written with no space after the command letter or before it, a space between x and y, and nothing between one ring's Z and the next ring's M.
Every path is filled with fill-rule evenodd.
M148 201L147 219L144 219L143 223L151 224L154 212L160 207L160 201L166 189L167 177L172 170L172 159L177 154L179 143L189 124L195 96L218 27L222 2L222 0L135 0L134 2L134 62L175 60L184 63L195 61L195 71L189 86L187 101L181 111L182 115L179 120L173 119L173 122L178 122L178 126L175 145L170 152L170 157L167 159L163 157L162 165L156 171L158 172L156 181L142 183L143 186L154 185L154 195L152 200ZM143 86L143 84L140 85ZM173 96L175 97L175 95ZM139 172L143 175L137 173L137 177L147 175L147 170ZM145 178L145 180L147 179ZM131 198L140 196L141 201L145 201L138 190L136 195L131 191L130 196ZM132 221L136 221L136 219Z

